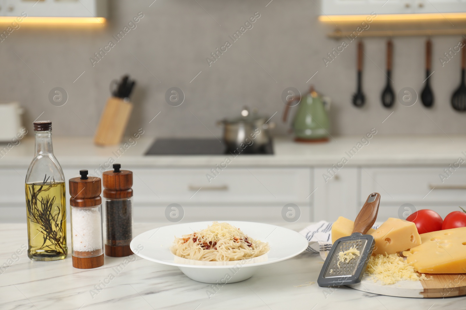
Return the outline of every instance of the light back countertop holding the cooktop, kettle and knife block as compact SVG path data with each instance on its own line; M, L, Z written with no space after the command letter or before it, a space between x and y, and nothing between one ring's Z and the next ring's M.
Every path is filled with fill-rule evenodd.
M240 155L232 166L331 166L348 159L345 166L357 165L449 165L466 158L466 135L382 136L375 135L355 155L350 149L363 136L334 137L328 143L297 143L290 138L274 139L274 155ZM119 145L96 146L92 137L53 137L54 153L63 167L104 164L113 158L131 167L198 167L224 161L226 155L144 156L155 138L142 136L121 155ZM124 142L128 139L123 139ZM362 145L362 144L361 144ZM0 145L1 148L6 145ZM34 155L34 139L26 137L5 154L0 153L0 167L27 166ZM228 155L232 157L231 155Z

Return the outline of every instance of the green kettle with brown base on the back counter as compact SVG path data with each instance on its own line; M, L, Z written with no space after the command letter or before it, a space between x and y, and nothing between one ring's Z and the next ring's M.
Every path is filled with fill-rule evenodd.
M287 97L283 122L287 121L290 106L298 106L292 124L295 141L326 142L329 140L330 99L328 97L322 97L313 86L304 96L290 94Z

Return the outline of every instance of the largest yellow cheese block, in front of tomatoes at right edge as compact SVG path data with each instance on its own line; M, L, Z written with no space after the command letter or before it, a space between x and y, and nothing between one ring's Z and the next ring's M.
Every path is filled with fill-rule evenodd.
M466 227L428 232L421 240L403 252L418 272L466 273Z

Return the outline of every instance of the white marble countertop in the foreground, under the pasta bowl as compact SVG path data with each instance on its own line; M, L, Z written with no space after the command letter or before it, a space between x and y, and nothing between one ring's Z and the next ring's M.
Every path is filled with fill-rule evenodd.
M296 231L304 224L288 224ZM135 234L158 227L135 224ZM262 266L250 279L226 284L209 299L210 284L195 282L177 267L152 263L145 259L128 260L119 273L113 267L127 258L105 257L96 269L80 270L71 265L71 257L55 262L33 262L26 252L14 256L27 245L26 224L1 224L0 309L464 309L465 297L401 298L364 293L347 287L329 289L315 282L322 267L319 256L308 252L280 263ZM102 283L109 274L110 283ZM108 281L106 281L108 282ZM102 290L96 290L96 285ZM98 292L91 294L91 290Z

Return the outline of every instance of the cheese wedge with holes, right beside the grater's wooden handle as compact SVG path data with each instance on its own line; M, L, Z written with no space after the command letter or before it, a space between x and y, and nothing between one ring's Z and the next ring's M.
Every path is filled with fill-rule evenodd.
M376 241L372 254L395 254L421 244L416 224L399 218L389 218L371 233Z

